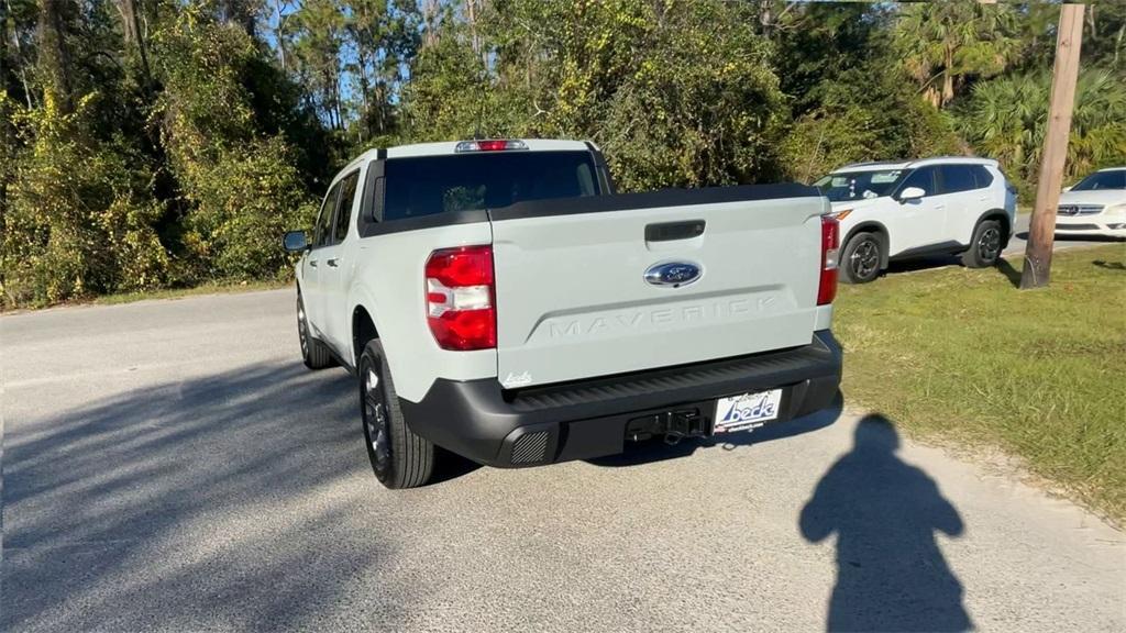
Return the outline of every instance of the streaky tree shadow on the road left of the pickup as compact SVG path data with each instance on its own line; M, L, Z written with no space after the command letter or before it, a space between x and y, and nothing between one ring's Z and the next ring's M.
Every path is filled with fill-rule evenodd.
M0 630L319 627L393 555L355 529L378 488L355 408L343 372L274 363L9 425Z

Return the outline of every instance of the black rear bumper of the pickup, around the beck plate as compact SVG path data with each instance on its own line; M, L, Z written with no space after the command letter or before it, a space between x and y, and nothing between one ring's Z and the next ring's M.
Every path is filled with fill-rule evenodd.
M543 387L439 380L420 402L400 403L411 429L443 448L492 466L534 466L620 453L640 428L711 434L715 401L727 395L781 387L774 421L797 418L829 407L840 380L840 346L822 330L783 351Z

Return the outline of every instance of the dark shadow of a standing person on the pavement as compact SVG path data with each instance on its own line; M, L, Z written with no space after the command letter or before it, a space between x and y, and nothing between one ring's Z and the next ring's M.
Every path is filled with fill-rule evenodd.
M837 586L829 631L965 631L973 626L962 583L935 540L958 536L962 517L921 470L895 452L899 435L879 414L857 425L852 449L817 482L802 509L811 543L837 535Z

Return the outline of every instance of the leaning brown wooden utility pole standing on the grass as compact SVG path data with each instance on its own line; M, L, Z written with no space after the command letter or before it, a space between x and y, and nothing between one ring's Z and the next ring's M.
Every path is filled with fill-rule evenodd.
M1052 107L1048 131L1044 135L1040 178L1036 184L1036 206L1028 230L1021 289L1048 285L1052 271L1052 244L1055 241L1056 205L1067 160L1071 113L1075 109L1075 82L1079 79L1079 50L1083 43L1083 5L1062 5L1056 37L1055 70L1052 74Z

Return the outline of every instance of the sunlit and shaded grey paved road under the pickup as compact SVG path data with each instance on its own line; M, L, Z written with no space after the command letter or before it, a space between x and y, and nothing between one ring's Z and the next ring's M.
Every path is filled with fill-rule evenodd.
M0 630L1126 630L1123 533L847 404L384 490L293 304L0 318Z

